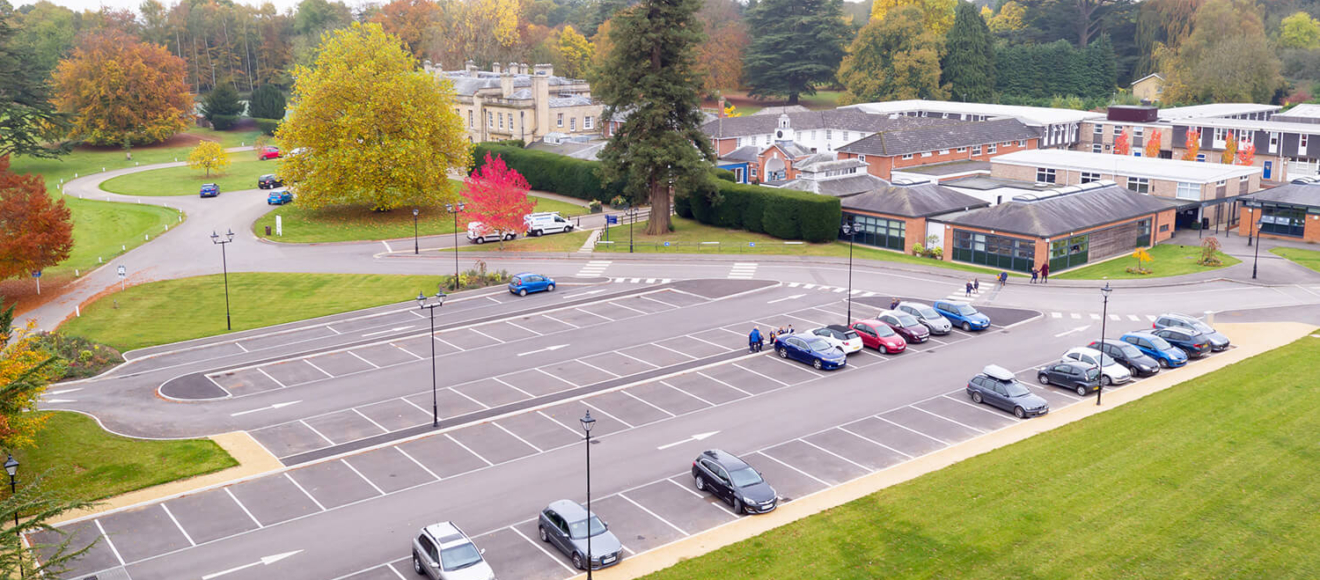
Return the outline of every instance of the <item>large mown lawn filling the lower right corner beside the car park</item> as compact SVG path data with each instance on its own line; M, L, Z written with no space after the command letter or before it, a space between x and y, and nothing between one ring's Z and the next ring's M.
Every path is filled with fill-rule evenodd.
M645 576L1315 579L1320 340Z

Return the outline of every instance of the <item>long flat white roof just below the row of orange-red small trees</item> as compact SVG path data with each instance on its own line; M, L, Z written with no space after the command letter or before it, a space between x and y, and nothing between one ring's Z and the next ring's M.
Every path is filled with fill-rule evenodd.
M1129 157L1113 153L1090 153L1065 149L1028 149L1005 153L990 160L991 165L1055 168L1077 172L1109 173L1193 184L1222 181L1261 173L1258 166L1217 163L1180 161L1156 157Z

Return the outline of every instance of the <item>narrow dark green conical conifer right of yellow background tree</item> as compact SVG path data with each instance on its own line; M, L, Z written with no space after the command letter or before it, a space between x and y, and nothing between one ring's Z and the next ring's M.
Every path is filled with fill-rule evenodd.
M994 49L990 28L970 3L958 3L940 63L953 100L989 103L994 96Z

